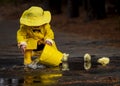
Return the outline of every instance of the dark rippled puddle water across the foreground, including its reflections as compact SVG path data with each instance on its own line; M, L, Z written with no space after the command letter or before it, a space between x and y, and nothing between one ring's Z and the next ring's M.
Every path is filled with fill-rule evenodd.
M82 57L69 58L65 69L60 66L25 70L20 64L22 59L0 59L0 86L120 86L120 57L110 57L110 64L105 67L96 61L92 57L89 70L84 69Z

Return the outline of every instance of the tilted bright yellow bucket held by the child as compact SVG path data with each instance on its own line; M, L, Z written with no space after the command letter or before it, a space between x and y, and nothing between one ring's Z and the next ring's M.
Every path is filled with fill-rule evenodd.
M59 66L59 64L62 63L62 57L62 52L46 44L39 60L40 63L43 63L45 65Z

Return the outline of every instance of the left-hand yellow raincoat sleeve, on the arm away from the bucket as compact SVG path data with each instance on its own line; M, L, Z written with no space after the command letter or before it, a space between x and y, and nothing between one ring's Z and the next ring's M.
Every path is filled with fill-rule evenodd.
M23 25L20 25L20 29L17 31L17 42L18 42L18 47L20 45L27 45L26 43L26 35L27 32Z

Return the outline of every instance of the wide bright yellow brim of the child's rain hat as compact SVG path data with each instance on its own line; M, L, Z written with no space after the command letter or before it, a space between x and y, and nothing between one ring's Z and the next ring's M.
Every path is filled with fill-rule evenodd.
M23 14L24 15L24 14ZM51 14L49 11L44 11L44 15L40 17L21 17L20 24L24 24L27 26L40 26L46 23L49 23L51 20Z

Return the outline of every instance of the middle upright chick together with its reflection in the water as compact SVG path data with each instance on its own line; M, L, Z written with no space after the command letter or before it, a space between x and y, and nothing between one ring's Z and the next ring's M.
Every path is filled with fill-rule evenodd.
M86 53L84 55L84 69L89 70L91 68L91 56L90 54Z

